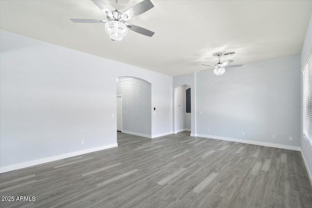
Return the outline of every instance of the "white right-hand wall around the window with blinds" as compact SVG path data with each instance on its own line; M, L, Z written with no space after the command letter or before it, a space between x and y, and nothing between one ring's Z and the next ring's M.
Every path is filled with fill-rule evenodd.
M312 54L312 16L310 19L310 23L308 26L306 38L304 40L302 50L301 50L301 70L305 66L306 62L309 59L310 54ZM301 72L301 70L298 70ZM302 73L301 73L301 126L300 126L300 136L301 136L301 153L303 155L303 160L305 162L305 165L307 167L307 170L309 172L310 176L310 182L312 184L312 147L308 143L308 141L303 137L303 125L302 125L302 113L303 113L303 100L302 100Z

